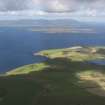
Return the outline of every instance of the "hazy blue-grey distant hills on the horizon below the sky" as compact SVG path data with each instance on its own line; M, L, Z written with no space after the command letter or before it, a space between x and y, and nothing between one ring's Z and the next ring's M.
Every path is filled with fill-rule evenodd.
M83 23L72 19L57 20L0 20L0 26L79 26Z

